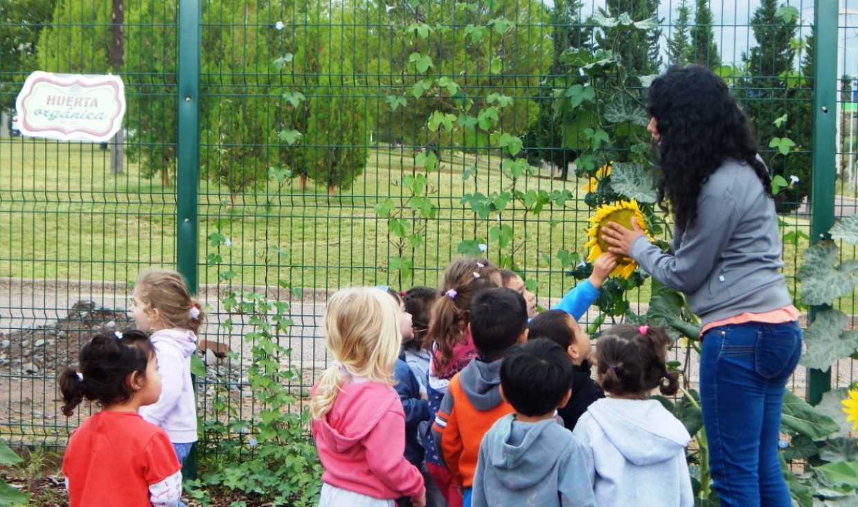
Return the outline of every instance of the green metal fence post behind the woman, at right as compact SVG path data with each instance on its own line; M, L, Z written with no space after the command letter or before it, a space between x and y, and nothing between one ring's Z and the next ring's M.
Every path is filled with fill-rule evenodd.
M828 238L834 225L834 172L837 145L837 2L816 0L813 15L813 193L811 242ZM813 306L810 320L825 306ZM831 369L807 372L807 402L816 405L831 389Z

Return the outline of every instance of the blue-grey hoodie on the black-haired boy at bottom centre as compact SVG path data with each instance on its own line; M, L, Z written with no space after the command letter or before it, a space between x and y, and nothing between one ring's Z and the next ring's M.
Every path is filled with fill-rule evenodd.
M505 415L486 433L474 474L473 507L589 507L589 449L555 419Z

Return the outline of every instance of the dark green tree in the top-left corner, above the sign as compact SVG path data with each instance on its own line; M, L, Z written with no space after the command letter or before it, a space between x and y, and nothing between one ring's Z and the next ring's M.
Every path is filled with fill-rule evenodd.
M35 69L39 33L51 23L57 0L0 0L0 110L15 98Z

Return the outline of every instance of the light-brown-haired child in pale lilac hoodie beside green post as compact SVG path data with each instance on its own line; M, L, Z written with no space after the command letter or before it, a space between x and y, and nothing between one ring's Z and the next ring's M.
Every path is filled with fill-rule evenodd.
M196 351L196 331L202 309L190 296L182 275L167 269L143 271L134 287L131 306L137 329L152 330L149 337L158 356L164 389L157 402L140 414L163 428L184 462L196 442L196 400L190 382L190 354Z

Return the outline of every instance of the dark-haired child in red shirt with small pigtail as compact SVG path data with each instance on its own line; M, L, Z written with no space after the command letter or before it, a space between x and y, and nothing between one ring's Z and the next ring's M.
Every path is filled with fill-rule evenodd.
M182 474L170 439L137 413L161 391L158 359L145 333L95 335L81 348L77 368L60 374L59 388L68 417L84 398L102 407L72 432L63 456L70 507L178 504Z

